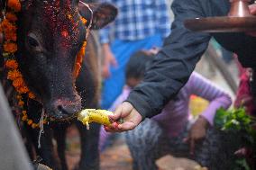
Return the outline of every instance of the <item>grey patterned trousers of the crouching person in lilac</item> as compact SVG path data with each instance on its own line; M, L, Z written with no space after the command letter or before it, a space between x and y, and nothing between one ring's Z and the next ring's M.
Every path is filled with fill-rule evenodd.
M155 161L167 154L195 159L210 170L231 169L233 153L239 142L213 128L207 130L206 139L197 143L195 155L189 155L189 146L183 142L188 125L176 138L169 138L160 124L146 119L134 130L125 133L127 145L133 157L133 170L157 170ZM230 144L235 143L234 146Z

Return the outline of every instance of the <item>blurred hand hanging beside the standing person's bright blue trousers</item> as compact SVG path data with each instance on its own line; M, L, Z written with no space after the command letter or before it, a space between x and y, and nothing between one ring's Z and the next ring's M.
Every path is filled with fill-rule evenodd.
M102 67L102 76L104 78L107 78L111 76L109 68L111 66L116 67L117 62L114 58L114 54L112 53L111 49L109 49L108 45L103 47L103 54L104 54L105 60Z

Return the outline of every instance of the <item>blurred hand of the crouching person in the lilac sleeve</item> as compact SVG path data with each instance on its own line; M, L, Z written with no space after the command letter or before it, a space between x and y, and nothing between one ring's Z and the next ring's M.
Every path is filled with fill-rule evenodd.
M184 139L185 142L189 143L191 155L194 155L196 142L206 138L207 126L208 121L200 116L189 130L188 137Z

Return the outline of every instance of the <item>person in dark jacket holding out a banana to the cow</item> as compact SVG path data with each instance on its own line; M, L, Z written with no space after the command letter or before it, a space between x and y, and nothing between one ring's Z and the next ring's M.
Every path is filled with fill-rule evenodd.
M248 2L250 13L256 15L256 4L252 0ZM189 31L184 26L187 19L227 15L230 6L230 1L223 0L174 0L172 11L175 19L169 37L147 69L142 83L136 85L125 102L119 104L114 115L110 115L114 121L122 118L124 122L119 125L113 123L111 128L106 127L105 130L133 130L145 118L160 113L164 105L174 99L187 83L213 37L225 49L238 55L242 67L251 67L255 71L256 31L206 33ZM251 91L252 94L256 92L256 86L252 86Z

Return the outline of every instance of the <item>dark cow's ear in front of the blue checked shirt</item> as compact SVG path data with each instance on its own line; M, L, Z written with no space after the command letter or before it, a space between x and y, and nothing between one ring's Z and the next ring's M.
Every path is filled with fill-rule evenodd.
M87 26L91 22L90 29L103 28L107 23L113 22L117 15L117 9L112 4L85 4L78 3L78 10L82 17L87 19Z

